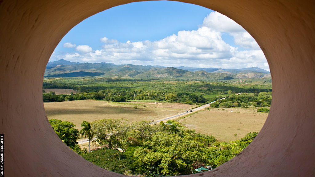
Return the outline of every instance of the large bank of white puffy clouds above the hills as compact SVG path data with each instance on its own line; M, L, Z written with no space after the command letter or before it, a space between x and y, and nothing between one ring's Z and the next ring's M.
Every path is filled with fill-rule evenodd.
M234 37L237 45L247 50L238 51L222 40L222 33ZM79 45L77 53L58 57L76 62L111 62L115 64L192 66L238 69L257 66L269 70L266 58L254 38L240 25L218 13L210 13L198 30L179 31L158 41L121 43L107 37L96 51ZM64 46L75 45L65 43Z

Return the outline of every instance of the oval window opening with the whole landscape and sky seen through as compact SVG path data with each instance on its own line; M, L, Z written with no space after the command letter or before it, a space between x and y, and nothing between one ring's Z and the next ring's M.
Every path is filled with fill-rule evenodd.
M46 114L67 146L107 170L146 176L230 160L262 128L271 98L266 58L247 31L168 1L84 20L56 47L43 83Z

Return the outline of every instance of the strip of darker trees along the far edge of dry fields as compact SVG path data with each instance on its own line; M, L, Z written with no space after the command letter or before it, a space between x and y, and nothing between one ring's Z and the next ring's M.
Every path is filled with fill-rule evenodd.
M212 108L230 108L230 107L269 107L272 100L272 92L260 92L260 93L249 93L249 94L235 94L231 90L227 91L226 99L222 99L222 96L213 97L211 99L205 99L202 95L189 94L183 92L171 92L163 93L154 90L145 91L144 89L132 90L126 92L117 92L116 90L101 90L99 92L90 93L77 93L70 95L66 94L55 94L43 93L43 102L60 102L60 101L72 101L72 100L106 100L115 102L125 102L127 100L154 100L154 101L168 101L177 102L184 104L207 104L216 101L210 106Z

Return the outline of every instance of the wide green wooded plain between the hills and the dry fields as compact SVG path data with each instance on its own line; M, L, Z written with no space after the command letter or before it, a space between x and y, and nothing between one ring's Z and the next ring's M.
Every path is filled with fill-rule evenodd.
M272 98L271 83L266 83L266 81L242 84L221 81L172 81L169 79L57 78L44 80L43 88L70 88L79 92L71 95L56 95L54 92L43 93L43 102L87 99L114 102L152 100L153 102L166 101L201 105L230 96L226 100L212 105L212 107L223 108L249 105L270 106Z

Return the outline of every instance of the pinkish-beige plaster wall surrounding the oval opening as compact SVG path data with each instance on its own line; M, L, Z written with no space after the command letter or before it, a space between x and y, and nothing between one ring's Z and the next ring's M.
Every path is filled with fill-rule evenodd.
M5 176L121 176L72 152L45 115L45 66L61 38L102 10L132 0L0 0L0 133ZM314 1L183 0L242 25L268 60L272 107L255 140L204 176L315 176ZM198 175L198 174L197 174Z

